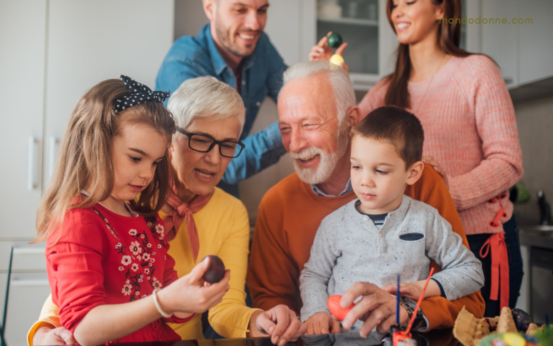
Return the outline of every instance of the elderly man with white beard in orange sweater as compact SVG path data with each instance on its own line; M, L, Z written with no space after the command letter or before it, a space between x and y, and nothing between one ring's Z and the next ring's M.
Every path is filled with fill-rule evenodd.
M296 172L274 185L259 205L247 285L254 307L267 310L285 304L299 315L299 275L309 260L317 228L330 212L356 198L350 182L350 130L359 122L360 111L348 74L339 66L301 62L290 67L283 80L277 103L279 129ZM407 186L405 194L436 208L468 246L447 186L431 166L417 183ZM435 262L431 266L440 270ZM348 307L359 297L342 322L344 328L364 320L359 333L366 337L374 328L385 333L395 324L393 295L370 282L357 282L344 293L341 306ZM426 298L418 330L452 327L463 306L482 316L480 292L453 301ZM340 331L337 321L321 315L315 321L321 331ZM409 315L402 307L400 322L405 325ZM315 330L319 328L308 324L308 334Z

